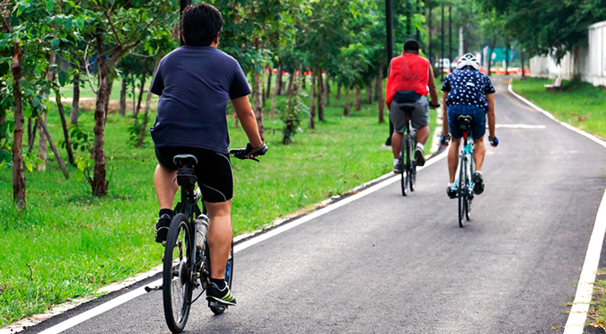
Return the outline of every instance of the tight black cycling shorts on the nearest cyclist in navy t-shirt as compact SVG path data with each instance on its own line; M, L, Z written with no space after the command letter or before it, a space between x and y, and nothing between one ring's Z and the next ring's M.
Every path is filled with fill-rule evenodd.
M206 202L220 203L233 198L232 164L227 155L198 147L155 147L158 163L171 171L177 171L172 158L179 154L191 154L198 159L198 186Z

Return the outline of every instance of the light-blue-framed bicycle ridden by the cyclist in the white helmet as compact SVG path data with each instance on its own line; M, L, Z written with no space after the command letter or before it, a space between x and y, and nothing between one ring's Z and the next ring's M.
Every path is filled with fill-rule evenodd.
M474 170L473 140L470 140L472 120L469 115L461 115L457 119L459 128L463 132L463 147L459 154L459 166L454 180L454 187L459 198L460 227L463 227L464 220L470 220L471 201L473 200L473 180L471 180L471 171Z

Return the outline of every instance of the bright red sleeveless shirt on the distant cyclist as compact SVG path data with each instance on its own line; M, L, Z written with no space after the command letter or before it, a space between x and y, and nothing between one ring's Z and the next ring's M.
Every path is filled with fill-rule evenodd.
M429 60L411 53L394 57L391 59L391 72L385 90L387 108L391 108L391 100L398 91L415 91L427 96L427 84Z

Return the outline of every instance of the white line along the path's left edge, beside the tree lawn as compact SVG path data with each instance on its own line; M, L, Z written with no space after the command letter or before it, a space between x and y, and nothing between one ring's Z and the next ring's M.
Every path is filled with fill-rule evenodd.
M425 166L418 167L417 171L421 171L424 168L431 166L432 164L444 159L447 155L448 155L448 150L444 151L444 153L442 153L442 154L436 155L435 158L428 160L426 162ZM343 206L355 201L356 199L364 198L364 196L370 195L378 189L385 188L385 187L389 186L391 183L397 182L398 180L400 180L400 176L398 174L393 174L393 176L390 177L389 179L383 180L382 182L375 184L374 186L372 186L369 189L364 189L363 191L360 191L356 195L353 195L349 198L340 200L335 204L329 205L329 207L323 207L320 210L315 211L310 215L304 215L303 217L296 219L291 223L281 225L281 226L269 231L268 233L263 233L263 234L259 235L258 237L254 237L246 242L239 243L239 244L235 245L235 247L233 247L233 252L237 253L238 251L243 251L252 245L255 245L259 242L266 241L269 238L276 236L277 234L285 233L286 231L292 229L293 227L296 227L300 224L307 223L307 222L311 221L313 218L317 218L321 215L328 214L330 211L333 211L333 210L337 209L338 207L343 207ZM161 284L162 284L162 279L158 279L157 281L150 283L148 286L159 286ZM99 305L95 308L92 308L89 311L83 312L81 314L76 315L73 318L70 318L66 321L58 323L57 325L49 328L48 330L43 330L39 334L58 334L64 330L68 330L80 323L83 323L84 321L92 319L93 317L96 317L97 315L99 315L103 312L110 311L111 309L113 309L123 303L127 303L142 294L146 294L145 286L141 286L141 287L137 288L136 290L133 290L127 294L122 294L119 297L116 297L115 299L112 299L107 303L102 303L101 305Z

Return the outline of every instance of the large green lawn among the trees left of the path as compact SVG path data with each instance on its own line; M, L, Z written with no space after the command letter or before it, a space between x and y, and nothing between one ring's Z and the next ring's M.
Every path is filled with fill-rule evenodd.
M333 87L326 121L316 122L312 130L303 119L303 133L295 136L294 145L280 144L282 122L265 115L268 154L261 163L233 161L234 234L255 231L277 217L311 208L391 171L391 150L380 149L388 124L378 124L376 103L364 104L362 111L344 118L343 97L336 101L336 91ZM69 92L66 89L66 96ZM112 97L115 92L119 92L118 82ZM88 95L83 92L82 96ZM435 110L432 115L435 122ZM92 118L92 112L83 112L80 127L92 132ZM232 128L233 119L229 124L232 146L243 147L247 139L242 128ZM82 172L72 166L67 167L71 179L64 180L48 149L47 171L25 173L28 209L18 213L13 206L11 171L0 171L4 241L0 327L161 263L162 247L153 242L158 210L154 149L149 136L145 148L133 148L128 141L129 125L128 118L108 117L105 150L110 194L106 198L90 196ZM48 127L59 142L61 127L52 105ZM61 154L66 160L64 150Z

